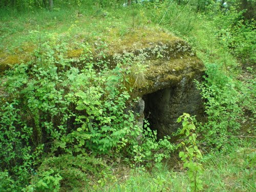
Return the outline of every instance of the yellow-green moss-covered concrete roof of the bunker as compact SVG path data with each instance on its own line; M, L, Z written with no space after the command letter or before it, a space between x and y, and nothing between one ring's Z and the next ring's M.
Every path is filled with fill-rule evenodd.
M75 41L76 39L74 39ZM102 45L102 43L106 47L99 48L99 44ZM33 42L26 42L14 49L12 53L0 52L0 71L4 71L16 63L33 59L33 51L37 46ZM192 67L195 70L203 68L202 62L184 40L156 28L130 29L124 35L119 34L119 29L111 28L108 33L103 35L103 38L102 36L101 38L95 37L95 41L90 42L90 46L95 57L98 57L99 50L102 50L109 58L112 58L112 62L116 62L118 58L129 56L136 61L150 64L146 70L148 83L153 76L159 74L168 73L168 75L164 75L164 78L174 80L177 79L177 74L187 67ZM67 47L67 58L78 58L83 54L83 49L77 47L77 44L70 43ZM115 63L112 64L115 65Z

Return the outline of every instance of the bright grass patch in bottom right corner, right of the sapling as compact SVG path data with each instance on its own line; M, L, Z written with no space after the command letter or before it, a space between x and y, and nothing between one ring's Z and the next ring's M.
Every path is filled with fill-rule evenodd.
M253 139L241 141L242 145L233 145L229 153L214 152L204 156L206 191L229 191L234 188L239 191L255 190L255 164L250 164L253 159L255 161L255 149L251 145Z

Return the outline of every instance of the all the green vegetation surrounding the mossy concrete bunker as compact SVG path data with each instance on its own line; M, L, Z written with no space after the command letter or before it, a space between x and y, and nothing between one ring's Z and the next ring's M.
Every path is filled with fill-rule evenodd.
M255 20L240 1L53 3L0 3L1 191L255 190ZM206 118L178 119L182 144L126 108L143 63L106 55L144 28L184 38L206 66Z

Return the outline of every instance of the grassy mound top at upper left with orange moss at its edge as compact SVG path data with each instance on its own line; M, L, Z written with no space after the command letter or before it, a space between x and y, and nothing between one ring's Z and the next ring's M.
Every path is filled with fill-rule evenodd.
M134 21L133 10L129 8L112 10L90 5L79 11L66 7L23 14L4 10L0 14L0 65L29 61L33 51L46 41L56 44L65 39L71 52L77 50L81 42L98 50L99 44L118 42L142 28L139 16Z

